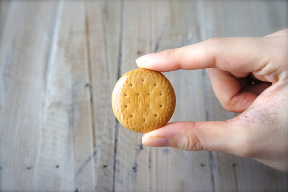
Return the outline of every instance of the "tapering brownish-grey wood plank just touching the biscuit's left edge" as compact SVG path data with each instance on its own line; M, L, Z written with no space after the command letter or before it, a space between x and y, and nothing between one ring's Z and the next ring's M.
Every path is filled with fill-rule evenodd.
M85 1L97 191L113 191L116 118L111 94L121 57L121 1Z

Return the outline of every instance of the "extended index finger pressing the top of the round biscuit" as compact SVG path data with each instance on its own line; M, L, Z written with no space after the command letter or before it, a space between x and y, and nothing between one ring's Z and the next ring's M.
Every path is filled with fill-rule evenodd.
M161 72L205 68L252 72L261 69L273 59L273 54L267 55L267 52L275 52L271 44L270 38L213 38L181 48L144 55L138 58L136 63L140 68Z

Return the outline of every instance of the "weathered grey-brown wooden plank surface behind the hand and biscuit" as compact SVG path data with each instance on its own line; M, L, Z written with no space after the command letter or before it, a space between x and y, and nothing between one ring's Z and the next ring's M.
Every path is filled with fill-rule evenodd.
M111 93L139 56L288 27L287 0L0 0L0 191L288 191L230 154L141 144ZM205 70L165 73L171 121L226 120Z

